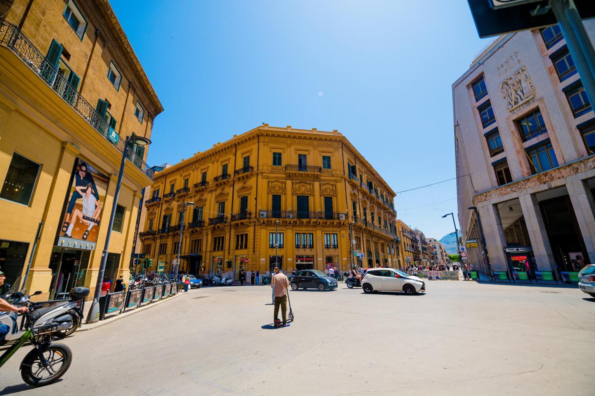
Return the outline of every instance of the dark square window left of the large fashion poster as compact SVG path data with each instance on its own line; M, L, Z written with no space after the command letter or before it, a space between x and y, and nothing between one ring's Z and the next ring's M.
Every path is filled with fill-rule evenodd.
M29 206L41 166L18 153L12 154L0 198Z

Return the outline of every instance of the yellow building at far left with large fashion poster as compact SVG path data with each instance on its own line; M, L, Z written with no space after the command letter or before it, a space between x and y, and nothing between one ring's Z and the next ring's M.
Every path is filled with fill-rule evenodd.
M31 258L37 298L93 296L124 140L150 138L163 108L107 0L8 0L0 15L0 269L14 284ZM129 268L146 154L126 153L106 282Z

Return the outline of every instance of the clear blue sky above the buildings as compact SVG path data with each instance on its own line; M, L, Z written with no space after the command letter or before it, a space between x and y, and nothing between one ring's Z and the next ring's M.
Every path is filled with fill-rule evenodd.
M165 108L149 165L267 122L339 130L394 191L455 177L451 85L491 42L465 0L111 3ZM395 205L441 238L455 181Z

